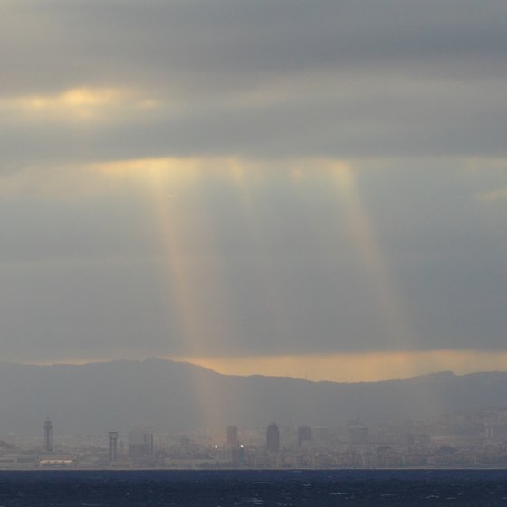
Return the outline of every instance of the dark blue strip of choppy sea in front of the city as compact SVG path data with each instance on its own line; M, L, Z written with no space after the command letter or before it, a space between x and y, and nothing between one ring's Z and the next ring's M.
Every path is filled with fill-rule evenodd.
M387 505L507 507L507 471L0 472L0 507Z

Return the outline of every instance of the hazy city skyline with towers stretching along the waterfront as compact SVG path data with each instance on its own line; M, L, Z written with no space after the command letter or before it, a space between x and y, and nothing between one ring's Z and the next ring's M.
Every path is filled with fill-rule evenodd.
M0 469L506 467L507 407L458 412L436 421L369 427L227 426L187 433L136 429L59 435L48 417L41 435L0 437Z

